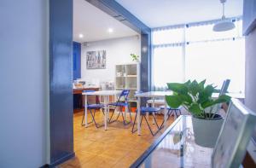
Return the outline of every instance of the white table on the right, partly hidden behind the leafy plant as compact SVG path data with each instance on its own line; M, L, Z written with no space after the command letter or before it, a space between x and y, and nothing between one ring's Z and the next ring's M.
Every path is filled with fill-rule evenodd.
M164 109L164 129L166 130L166 119L167 119L167 104L166 104L166 96L172 96L172 91L148 91L148 92L138 92L135 94L137 97L137 135L141 135L141 98L151 98L153 100L152 106L154 107L154 100L156 98L163 99L165 101L165 109Z

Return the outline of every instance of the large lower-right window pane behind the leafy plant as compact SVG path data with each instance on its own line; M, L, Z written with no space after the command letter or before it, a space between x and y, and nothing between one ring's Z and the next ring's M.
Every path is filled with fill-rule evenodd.
M244 39L208 43L189 43L186 46L186 80L207 78L207 84L219 87L230 78L229 91L244 92Z

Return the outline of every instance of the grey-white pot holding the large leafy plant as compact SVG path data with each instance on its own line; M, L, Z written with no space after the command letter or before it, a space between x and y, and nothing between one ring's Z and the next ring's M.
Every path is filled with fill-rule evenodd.
M214 148L223 122L224 119L220 115L216 119L192 117L195 143L202 147Z

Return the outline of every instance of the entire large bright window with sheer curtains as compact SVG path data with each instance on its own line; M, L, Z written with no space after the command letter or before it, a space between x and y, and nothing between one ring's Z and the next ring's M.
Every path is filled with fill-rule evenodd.
M168 82L207 79L221 87L229 78L229 91L243 93L245 42L241 20L228 32L212 32L213 22L154 29L153 84L162 90Z

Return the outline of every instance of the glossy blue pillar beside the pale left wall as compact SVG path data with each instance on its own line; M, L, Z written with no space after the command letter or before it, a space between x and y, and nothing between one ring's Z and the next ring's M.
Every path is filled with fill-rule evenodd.
M73 0L49 0L50 165L73 153Z

